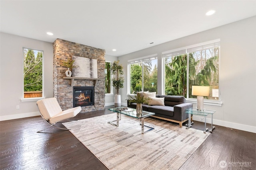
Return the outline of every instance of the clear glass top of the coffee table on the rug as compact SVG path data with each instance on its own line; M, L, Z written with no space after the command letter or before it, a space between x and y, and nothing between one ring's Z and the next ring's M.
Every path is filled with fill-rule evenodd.
M142 117L148 117L148 116L152 116L155 113L149 112L149 111L142 111L141 114L137 114L136 113L136 109L130 108L130 107L115 107L115 108L111 108L108 109L117 113L121 113L123 115L128 115L131 117L135 117L135 118L142 118ZM128 110L128 111L125 111Z

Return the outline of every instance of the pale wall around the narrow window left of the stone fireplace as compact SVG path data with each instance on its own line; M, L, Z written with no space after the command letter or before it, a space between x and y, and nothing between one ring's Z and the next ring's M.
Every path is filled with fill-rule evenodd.
M0 120L39 115L36 102L23 97L23 47L44 51L44 96L53 97L52 43L0 33ZM20 109L16 109L20 106Z

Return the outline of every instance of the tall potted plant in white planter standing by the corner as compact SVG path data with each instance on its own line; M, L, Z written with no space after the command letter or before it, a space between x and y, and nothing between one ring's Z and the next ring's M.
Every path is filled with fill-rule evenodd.
M115 107L121 106L121 96L119 94L119 89L124 87L124 74L122 64L119 64L119 61L114 61L111 64L111 74L116 77L112 78L112 86L116 89L117 94L115 95Z

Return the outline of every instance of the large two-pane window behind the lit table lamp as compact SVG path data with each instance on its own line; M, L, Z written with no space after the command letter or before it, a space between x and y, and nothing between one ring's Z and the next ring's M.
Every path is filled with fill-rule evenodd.
M220 40L164 52L164 94L192 96L192 86L210 86L208 100L219 99Z

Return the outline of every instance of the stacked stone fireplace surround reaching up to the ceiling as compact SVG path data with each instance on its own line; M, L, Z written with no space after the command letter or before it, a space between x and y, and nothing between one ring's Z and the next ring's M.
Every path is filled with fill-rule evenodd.
M94 87L94 106L82 107L80 113L105 109L105 50L56 39L53 43L53 79L54 97L57 98L62 110L73 107L73 87L70 79L64 79L66 67L63 63L72 56L97 59L98 78ZM94 80L74 79L73 86L94 86Z

